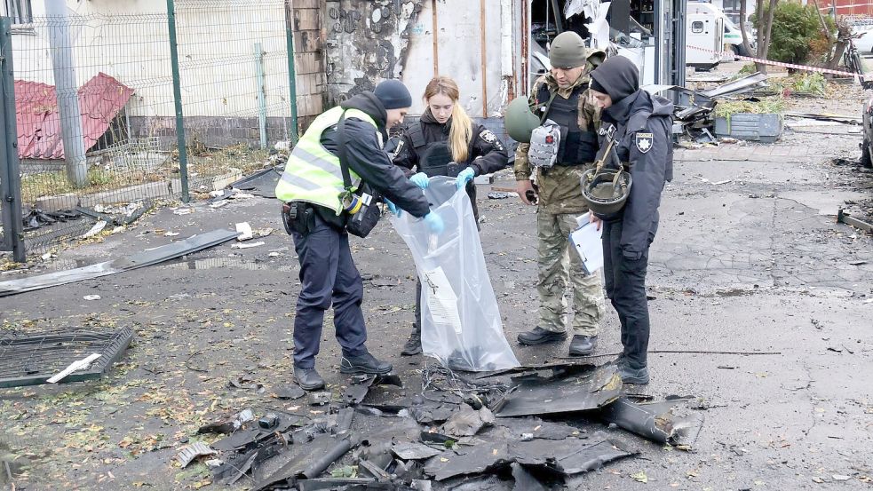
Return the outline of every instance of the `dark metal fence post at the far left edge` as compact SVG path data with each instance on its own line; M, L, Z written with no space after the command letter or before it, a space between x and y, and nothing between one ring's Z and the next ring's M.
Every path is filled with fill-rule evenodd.
M18 160L18 131L15 128L15 81L12 76L12 21L0 18L0 199L3 199L3 249L12 250L12 260L27 261L21 225L21 175Z

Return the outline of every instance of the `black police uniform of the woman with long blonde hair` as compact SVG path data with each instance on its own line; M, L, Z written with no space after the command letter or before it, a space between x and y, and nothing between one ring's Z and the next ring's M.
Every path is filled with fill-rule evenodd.
M448 147L448 133L451 131L452 120L439 123L425 109L418 123L410 125L403 133L401 147L394 156L394 163L406 169L408 175L414 172L424 172L427 177L448 176L457 177L461 170L472 167L476 176L490 174L504 169L509 165L509 154L504 144L496 135L480 124L473 123L472 139L467 148L466 162L454 162L451 149ZM470 196L473 218L479 226L479 206L476 204L476 185L473 181L467 183L467 195ZM400 207L403 208L403 207ZM421 281L416 281L416 321L413 329L421 329Z

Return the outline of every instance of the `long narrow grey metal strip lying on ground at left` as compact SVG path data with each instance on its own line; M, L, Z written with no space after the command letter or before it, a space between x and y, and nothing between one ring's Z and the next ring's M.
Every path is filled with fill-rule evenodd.
M107 276L108 274L122 273L139 267L163 263L176 257L186 256L198 250L209 249L218 244L231 241L236 236L237 233L231 230L214 230L96 265L29 276L19 280L2 281L0 282L0 297L66 285L75 281L92 280L101 276Z

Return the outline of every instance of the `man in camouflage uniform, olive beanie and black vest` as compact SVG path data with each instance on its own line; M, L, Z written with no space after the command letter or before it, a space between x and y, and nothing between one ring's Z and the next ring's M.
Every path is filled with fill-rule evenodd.
M535 329L519 335L521 344L544 344L567 337L567 283L573 291L573 339L570 355L588 355L597 347L603 315L603 289L599 272L586 274L582 260L570 251L569 234L578 228L576 217L587 214L580 178L599 150L599 108L591 99L588 84L593 60L583 40L565 32L552 42L549 53L552 71L535 83L529 99L541 121L552 120L560 127L560 147L552 167L534 168L528 162L529 144L516 151L515 179L521 201L539 206L536 213L538 237L540 321ZM530 192L536 200L528 199Z

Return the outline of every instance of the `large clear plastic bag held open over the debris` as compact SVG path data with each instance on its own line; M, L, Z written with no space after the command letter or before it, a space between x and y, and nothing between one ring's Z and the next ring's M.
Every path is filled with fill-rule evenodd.
M445 177L431 178L425 196L445 223L442 234L431 234L409 213L391 218L421 279L422 351L457 370L518 367L504 337L470 197Z

